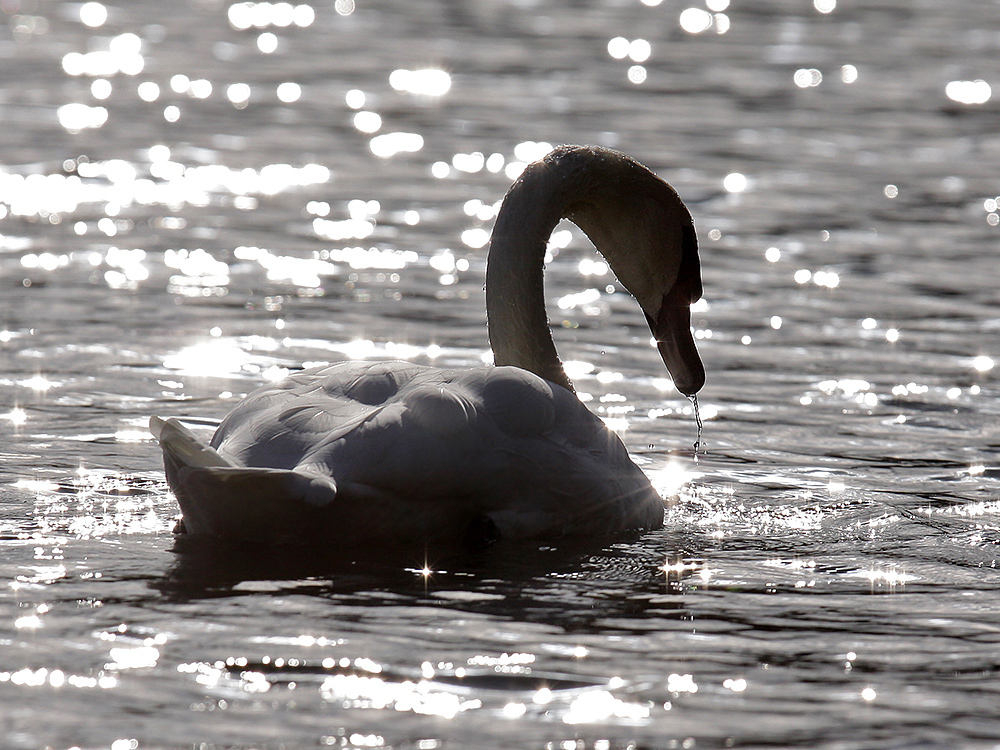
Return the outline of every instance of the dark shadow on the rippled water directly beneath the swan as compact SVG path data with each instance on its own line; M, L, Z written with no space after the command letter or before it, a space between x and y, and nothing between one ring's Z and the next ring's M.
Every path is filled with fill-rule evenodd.
M485 550L261 547L177 537L174 564L150 586L188 602L305 595L337 605L421 606L535 622L567 631L598 621L680 616L682 579L665 575L678 540L658 531L609 541L503 542ZM676 602L671 602L671 597ZM666 598L664 598L666 597ZM654 603L655 600L655 603Z

